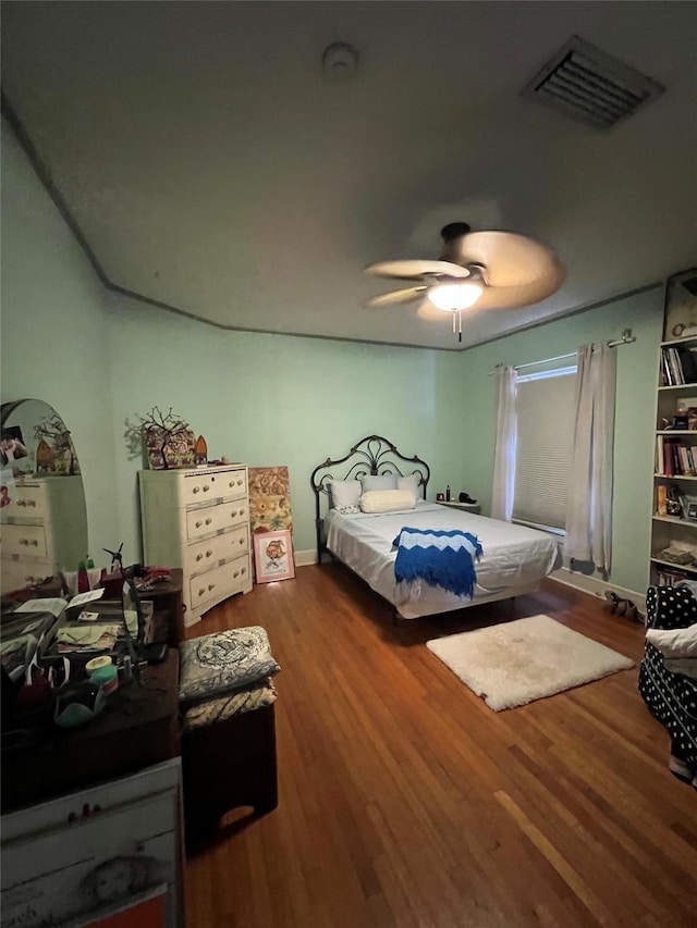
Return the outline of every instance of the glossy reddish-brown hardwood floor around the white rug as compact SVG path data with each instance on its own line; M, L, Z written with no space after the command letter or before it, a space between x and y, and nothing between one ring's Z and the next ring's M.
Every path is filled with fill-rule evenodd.
M641 626L553 581L395 628L338 565L189 629L261 624L282 670L279 806L189 855L188 928L697 925L697 794L637 670L496 714L425 646L539 613L640 658Z

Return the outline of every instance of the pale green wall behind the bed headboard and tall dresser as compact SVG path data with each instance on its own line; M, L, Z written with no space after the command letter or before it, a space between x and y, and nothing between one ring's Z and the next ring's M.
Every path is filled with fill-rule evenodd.
M211 457L289 467L297 550L315 545L311 470L366 435L428 458L432 487L457 483L463 437L447 414L460 394L455 354L228 332L123 298L108 315L126 548L138 534L142 459L130 459L123 434L154 406L186 419Z

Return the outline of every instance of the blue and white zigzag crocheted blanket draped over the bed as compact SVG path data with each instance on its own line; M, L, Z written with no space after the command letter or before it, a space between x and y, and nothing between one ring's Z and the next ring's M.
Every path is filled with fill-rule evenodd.
M469 532L403 528L392 542L396 550L394 576L402 580L426 580L456 596L474 596L477 574L474 561L481 545Z

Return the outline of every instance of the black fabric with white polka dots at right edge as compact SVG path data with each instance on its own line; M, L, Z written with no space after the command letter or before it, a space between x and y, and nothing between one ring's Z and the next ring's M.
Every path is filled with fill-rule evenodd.
M697 599L688 587L649 586L647 628L677 629L695 622ZM667 670L661 653L646 642L639 693L671 737L671 770L697 787L697 681Z

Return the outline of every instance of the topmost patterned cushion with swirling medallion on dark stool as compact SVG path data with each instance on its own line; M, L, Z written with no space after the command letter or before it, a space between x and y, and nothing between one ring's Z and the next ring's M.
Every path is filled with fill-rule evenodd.
M280 669L260 626L185 641L180 646L180 703L249 689Z

